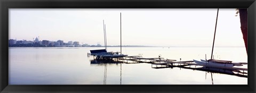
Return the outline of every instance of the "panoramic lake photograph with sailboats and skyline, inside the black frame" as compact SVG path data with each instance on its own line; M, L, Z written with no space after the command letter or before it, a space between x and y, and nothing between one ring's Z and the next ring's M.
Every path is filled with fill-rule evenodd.
M9 84L247 84L247 9L9 9Z

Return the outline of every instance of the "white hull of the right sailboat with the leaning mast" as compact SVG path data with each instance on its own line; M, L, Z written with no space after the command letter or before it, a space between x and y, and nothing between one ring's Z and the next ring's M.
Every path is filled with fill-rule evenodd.
M197 61L193 60L197 64L201 65L211 65L211 66L223 66L223 67L233 67L234 64L221 64L221 63L212 63L212 62L206 62L206 61Z

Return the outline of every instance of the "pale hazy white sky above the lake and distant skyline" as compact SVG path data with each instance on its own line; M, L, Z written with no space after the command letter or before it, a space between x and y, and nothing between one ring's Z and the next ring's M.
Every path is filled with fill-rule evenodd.
M217 9L9 9L9 38L144 46L212 46ZM219 9L215 46L242 46L235 9Z

